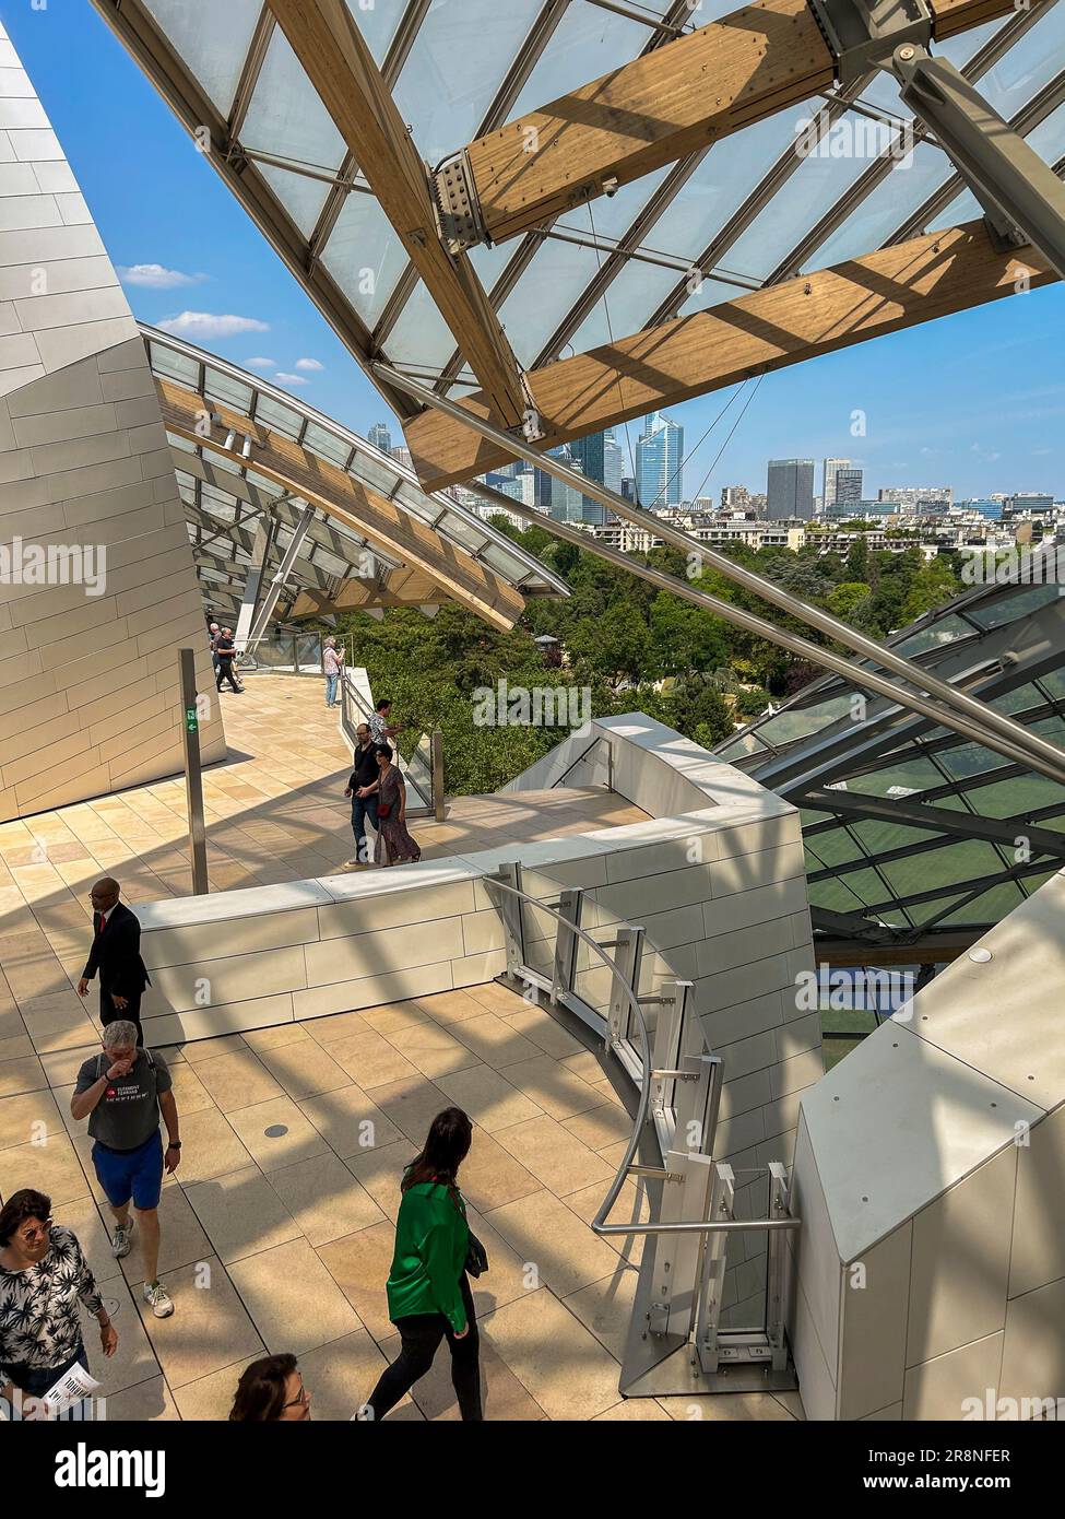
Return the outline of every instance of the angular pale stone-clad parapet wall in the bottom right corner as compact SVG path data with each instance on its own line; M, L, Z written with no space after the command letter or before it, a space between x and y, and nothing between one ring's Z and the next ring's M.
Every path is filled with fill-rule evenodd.
M1060 1417L1063 921L1057 873L804 1095L810 1417Z

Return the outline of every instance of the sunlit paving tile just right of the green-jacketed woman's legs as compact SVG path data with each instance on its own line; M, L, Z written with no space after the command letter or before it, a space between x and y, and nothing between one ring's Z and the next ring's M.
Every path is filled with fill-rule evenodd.
M618 1402L621 1367L545 1287L480 1329L548 1419L594 1419Z

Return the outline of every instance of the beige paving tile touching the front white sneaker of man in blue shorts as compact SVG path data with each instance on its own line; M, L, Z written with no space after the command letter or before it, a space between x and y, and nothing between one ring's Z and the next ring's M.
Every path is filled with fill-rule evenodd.
M217 1258L169 1271L163 1284L175 1305L170 1318L155 1318L143 1302L137 1306L167 1385L181 1407L179 1388L234 1361L254 1360L264 1349Z

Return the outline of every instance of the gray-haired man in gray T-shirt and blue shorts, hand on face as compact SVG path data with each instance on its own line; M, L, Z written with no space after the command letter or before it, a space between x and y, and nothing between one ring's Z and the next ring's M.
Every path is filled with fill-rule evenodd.
M164 1168L172 1176L181 1164L178 1104L166 1060L138 1047L137 1027L128 1019L103 1030L103 1053L77 1072L70 1112L77 1121L88 1118L96 1141L93 1165L115 1221L111 1252L115 1259L129 1255L132 1202L144 1262L143 1297L156 1318L169 1318L173 1302L160 1282L160 1197ZM167 1126L166 1151L160 1113Z

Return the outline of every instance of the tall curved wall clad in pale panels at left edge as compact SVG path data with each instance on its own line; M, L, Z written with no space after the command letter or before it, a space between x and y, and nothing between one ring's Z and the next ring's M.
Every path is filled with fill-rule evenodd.
M211 664L155 383L2 27L0 564L0 820L181 770L176 650L208 691ZM225 756L217 706L201 746Z

